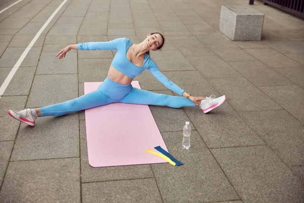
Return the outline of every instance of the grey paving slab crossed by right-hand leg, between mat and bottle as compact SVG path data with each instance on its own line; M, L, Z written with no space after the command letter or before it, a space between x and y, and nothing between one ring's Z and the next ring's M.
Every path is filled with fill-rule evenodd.
M153 92L173 95L172 91L170 90L160 90ZM184 123L186 121L190 121L182 108L175 109L165 106L149 106L149 108L160 132L180 131L182 130ZM193 125L192 129L195 129Z

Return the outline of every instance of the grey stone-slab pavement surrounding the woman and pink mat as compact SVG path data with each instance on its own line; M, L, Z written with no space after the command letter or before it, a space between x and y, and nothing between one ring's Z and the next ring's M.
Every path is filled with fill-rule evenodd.
M0 2L0 10L16 0ZM0 14L0 84L63 0L23 0ZM304 21L245 0L68 0L41 33L0 95L0 202L304 202ZM265 14L262 41L234 42L219 30L220 7ZM35 127L8 109L43 107L84 94L100 82L113 51L70 51L69 44L149 32L166 44L151 57L196 96L220 96L208 114L197 107L149 106L169 163L93 168L84 111L43 117ZM148 71L141 88L174 95ZM192 145L181 148L182 127Z

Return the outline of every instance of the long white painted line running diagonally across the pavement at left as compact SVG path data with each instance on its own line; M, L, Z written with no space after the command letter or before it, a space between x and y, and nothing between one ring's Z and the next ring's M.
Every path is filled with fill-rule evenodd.
M9 73L8 77L5 79L5 81L3 82L3 84L0 87L0 98L3 95L4 91L6 90L6 88L8 87L8 85L10 84L13 76L15 75L15 73L17 72L17 70L19 69L19 66L21 65L22 61L24 60L24 58L26 57L26 55L28 54L29 50L32 48L32 46L34 45L34 43L37 41L37 39L39 38L39 36L41 35L41 33L43 32L43 30L48 26L48 24L51 22L51 20L54 18L54 16L56 15L56 13L61 9L61 7L67 2L67 0L64 0L59 7L54 11L54 13L49 17L49 19L47 20L47 22L40 28L40 30L36 33L36 36L32 39L32 41L29 43L29 45L26 47L26 49L24 50L24 52L22 53L22 55L20 56L20 58L18 59L18 61L16 62L16 64L14 65L13 69L11 70L11 72Z

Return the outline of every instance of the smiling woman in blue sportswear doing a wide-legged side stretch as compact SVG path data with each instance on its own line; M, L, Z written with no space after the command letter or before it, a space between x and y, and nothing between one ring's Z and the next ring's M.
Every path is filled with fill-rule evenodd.
M57 55L59 59L65 57L71 49L78 50L118 50L110 65L108 75L97 90L81 97L38 109L24 109L19 112L8 110L13 118L35 125L35 119L41 116L62 116L69 112L90 109L110 103L128 103L141 105L168 106L181 108L200 106L204 113L218 107L225 100L225 95L214 98L197 97L185 92L166 78L158 69L156 63L149 57L149 51L157 51L163 47L165 38L161 33L149 33L140 44L133 44L129 39L119 38L109 42L89 42L69 45ZM149 70L168 89L180 96L157 94L154 92L132 87L133 78Z

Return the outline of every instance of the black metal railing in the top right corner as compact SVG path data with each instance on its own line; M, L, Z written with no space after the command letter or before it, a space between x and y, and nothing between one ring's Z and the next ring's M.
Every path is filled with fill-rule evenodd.
M258 0L304 19L304 0ZM253 4L253 0L249 0Z

